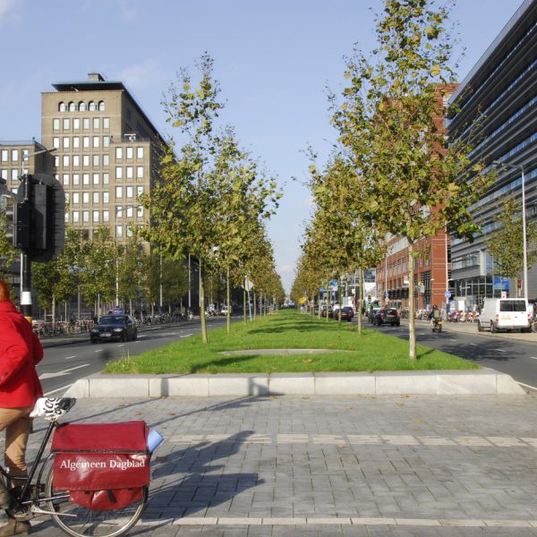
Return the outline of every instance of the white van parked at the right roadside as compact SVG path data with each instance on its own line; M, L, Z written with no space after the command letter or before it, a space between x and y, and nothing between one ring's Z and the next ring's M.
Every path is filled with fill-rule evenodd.
M528 301L525 298L486 298L477 321L477 329L482 332L498 330L516 330L529 332L531 315L528 313Z

